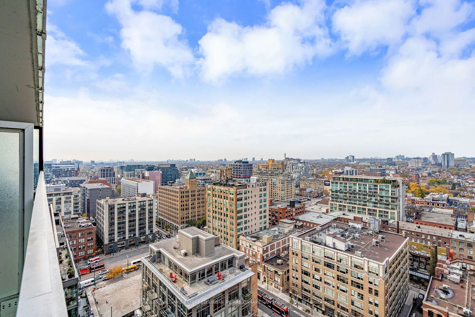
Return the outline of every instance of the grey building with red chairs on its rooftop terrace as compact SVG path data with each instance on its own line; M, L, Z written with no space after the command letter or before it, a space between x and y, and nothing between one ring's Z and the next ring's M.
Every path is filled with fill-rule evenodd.
M142 258L143 316L257 316L256 274L244 253L190 227Z

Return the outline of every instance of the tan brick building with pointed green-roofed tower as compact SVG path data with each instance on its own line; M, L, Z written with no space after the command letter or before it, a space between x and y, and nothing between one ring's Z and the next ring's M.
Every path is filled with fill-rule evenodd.
M189 221L206 217L205 192L206 188L197 185L192 171L188 171L184 184L158 186L159 221L169 224L172 231L177 231L188 227Z

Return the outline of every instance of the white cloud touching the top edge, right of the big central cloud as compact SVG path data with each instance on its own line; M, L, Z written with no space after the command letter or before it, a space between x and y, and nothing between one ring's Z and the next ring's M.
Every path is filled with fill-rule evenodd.
M400 44L414 14L414 0L356 0L335 11L333 31L350 54L360 55Z

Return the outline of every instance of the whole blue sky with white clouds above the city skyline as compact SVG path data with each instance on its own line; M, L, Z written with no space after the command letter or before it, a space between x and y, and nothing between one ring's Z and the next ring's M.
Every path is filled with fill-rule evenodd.
M45 157L474 156L474 44L473 1L49 0Z

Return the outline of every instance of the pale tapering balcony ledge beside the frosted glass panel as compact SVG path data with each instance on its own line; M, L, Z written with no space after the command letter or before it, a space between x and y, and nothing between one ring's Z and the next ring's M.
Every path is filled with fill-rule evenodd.
M18 317L67 316L52 221L45 179L40 172L19 293Z

